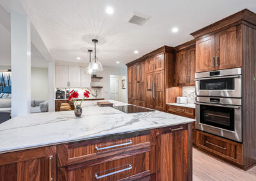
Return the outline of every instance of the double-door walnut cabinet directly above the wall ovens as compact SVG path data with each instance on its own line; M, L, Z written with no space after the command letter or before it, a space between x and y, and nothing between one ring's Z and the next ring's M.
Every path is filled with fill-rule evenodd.
M242 26L234 25L196 40L196 72L242 66Z

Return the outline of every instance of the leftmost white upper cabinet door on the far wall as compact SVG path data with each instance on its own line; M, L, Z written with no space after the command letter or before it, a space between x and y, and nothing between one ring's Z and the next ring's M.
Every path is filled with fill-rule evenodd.
M56 88L68 87L68 66L56 66Z

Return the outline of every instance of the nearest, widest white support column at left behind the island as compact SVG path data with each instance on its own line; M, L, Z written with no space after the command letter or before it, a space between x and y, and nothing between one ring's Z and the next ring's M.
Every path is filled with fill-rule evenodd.
M12 117L30 113L31 36L26 15L11 11Z

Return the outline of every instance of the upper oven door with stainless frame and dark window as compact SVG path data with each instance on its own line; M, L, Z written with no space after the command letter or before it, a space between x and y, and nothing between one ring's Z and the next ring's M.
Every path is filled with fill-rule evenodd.
M242 75L196 78L196 96L242 97Z

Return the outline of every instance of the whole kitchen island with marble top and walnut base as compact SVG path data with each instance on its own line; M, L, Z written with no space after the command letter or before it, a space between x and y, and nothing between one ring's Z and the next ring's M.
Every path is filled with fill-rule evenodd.
M192 180L193 119L82 107L0 124L0 180Z

